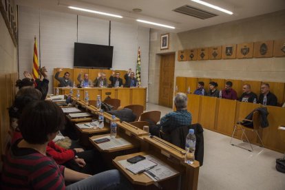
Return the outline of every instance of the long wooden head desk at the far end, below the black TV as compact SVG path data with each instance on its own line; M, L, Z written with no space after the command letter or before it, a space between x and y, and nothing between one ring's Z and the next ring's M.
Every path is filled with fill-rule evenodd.
M54 92L56 88L54 87ZM147 88L146 87L92 87L92 88L72 88L73 96L77 91L80 93L80 100L84 101L85 93L88 92L89 100L96 101L97 95L104 101L107 96L120 99L120 106L143 105L146 109ZM59 94L70 94L70 87L59 87Z

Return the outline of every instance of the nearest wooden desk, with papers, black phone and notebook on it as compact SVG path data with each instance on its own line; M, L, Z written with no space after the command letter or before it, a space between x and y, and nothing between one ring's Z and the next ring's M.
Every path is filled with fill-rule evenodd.
M156 156L156 158L158 158L159 160L165 162L167 165L169 165L173 169L176 169L178 172L182 171L180 169L180 167L178 167L177 165L174 165L173 163L169 162L166 158L163 158L163 156L160 156L159 154L156 154L156 152L154 152L154 151L142 151L142 152L138 152L138 153L135 153L135 154L129 154L129 155L125 155L125 156L118 156L118 157L116 157L113 160L114 165L116 166L116 168L118 170L120 170L120 171L122 171L122 173L124 173L126 178L128 178L128 180L132 184L138 184L138 185L142 185L142 186L149 186L151 184L155 184L154 180L149 178L149 176L147 176L145 173L138 173L138 174L135 175L134 173L131 173L131 171L128 171L127 169L125 169L125 167L123 167L119 163L120 160L127 160L128 158L131 158L131 157L134 157L134 156L138 156L138 155L142 155L142 156L153 155L153 156ZM159 180L157 183L160 184L162 189L178 189L178 176L179 176L179 173L174 175L174 176L171 176L169 178L166 178L164 180ZM175 179L174 182L167 182L171 178L176 178L176 179ZM135 187L135 189L138 189L138 188ZM147 189L152 189L152 188L148 187Z

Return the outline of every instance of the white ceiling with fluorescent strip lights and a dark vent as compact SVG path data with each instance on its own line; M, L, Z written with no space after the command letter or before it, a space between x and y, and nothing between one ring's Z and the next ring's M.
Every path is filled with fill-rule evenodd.
M70 12L72 14L82 14L89 17L98 17L112 21L123 21L135 23L136 19L144 19L147 21L158 22L166 25L172 25L176 29L166 29L154 27L139 23L139 25L148 28L156 28L166 30L169 32L184 32L196 28L202 28L209 25L216 25L219 23L226 23L254 17L260 14L269 12L276 12L278 10L285 10L285 0L204 0L207 3L212 3L233 12L229 15L212 8L207 8L191 0L15 0L19 5L35 6L43 9ZM197 19L185 14L173 12L180 6L189 5L214 14L217 17L210 19ZM88 8L97 11L109 12L113 14L120 14L123 19L113 19L106 16L98 16L91 13L83 13L75 10L69 10L67 6L78 6L81 8ZM140 8L142 12L136 13L132 9ZM284 18L285 19L285 18Z

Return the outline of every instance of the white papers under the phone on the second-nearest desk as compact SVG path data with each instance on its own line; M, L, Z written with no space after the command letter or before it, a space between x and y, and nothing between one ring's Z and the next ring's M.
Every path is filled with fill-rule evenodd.
M109 138L109 140L110 140L108 142L103 142L103 143L97 144L98 147L100 147L103 150L117 148L117 147L123 147L126 145L131 145L131 142L129 142L123 138L111 138L111 136L103 136L101 138ZM101 139L101 138L94 138L92 140L97 140L97 139Z

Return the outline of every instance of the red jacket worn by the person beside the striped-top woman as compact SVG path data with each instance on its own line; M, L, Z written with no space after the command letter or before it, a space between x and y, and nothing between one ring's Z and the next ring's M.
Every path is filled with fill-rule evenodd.
M14 131L11 140L12 144L19 138L23 138L21 132ZM47 154L50 154L50 156L52 156L52 158L54 158L56 163L59 165L71 160L75 156L75 151L73 149L64 149L63 147L59 147L59 145L56 145L52 140L48 142L46 152Z

